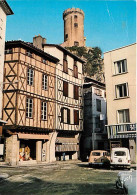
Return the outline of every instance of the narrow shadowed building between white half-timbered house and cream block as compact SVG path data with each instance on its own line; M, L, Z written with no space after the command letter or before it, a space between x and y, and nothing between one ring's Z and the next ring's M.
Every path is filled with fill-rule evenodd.
M106 131L105 84L85 77L84 131L81 137L81 159L86 160L91 150L108 150Z

